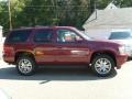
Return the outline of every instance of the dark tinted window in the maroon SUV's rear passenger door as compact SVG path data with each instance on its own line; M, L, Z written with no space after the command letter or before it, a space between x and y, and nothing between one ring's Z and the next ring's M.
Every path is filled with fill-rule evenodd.
M52 30L37 30L34 35L34 42L50 43L52 42Z

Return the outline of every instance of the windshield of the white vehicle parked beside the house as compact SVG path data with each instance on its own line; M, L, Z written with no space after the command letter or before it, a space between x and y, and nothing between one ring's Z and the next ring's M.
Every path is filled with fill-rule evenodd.
M127 40L132 38L132 33L130 32L111 32L109 40Z

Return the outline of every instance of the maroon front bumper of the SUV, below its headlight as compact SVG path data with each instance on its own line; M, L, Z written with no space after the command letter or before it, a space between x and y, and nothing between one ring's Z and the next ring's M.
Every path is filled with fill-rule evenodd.
M117 68L121 68L121 66L128 61L128 55L118 55L117 56Z

